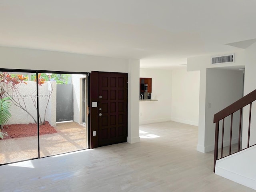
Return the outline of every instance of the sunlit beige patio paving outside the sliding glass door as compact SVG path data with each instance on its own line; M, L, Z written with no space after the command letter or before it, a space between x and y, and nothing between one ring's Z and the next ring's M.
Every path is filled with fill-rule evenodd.
M57 133L40 135L40 157L88 148L86 127L76 122L60 122ZM0 140L0 164L38 157L37 136Z

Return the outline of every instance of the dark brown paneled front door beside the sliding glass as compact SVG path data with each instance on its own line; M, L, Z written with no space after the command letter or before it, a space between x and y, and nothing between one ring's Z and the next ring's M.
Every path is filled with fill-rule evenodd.
M128 74L92 72L90 82L91 148L127 142Z

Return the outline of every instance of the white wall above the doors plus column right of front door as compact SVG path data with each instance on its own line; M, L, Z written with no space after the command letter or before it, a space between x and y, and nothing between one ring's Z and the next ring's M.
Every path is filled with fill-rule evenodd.
M0 46L0 68L53 70L68 72L128 73L128 141L139 141L138 82L139 60L89 56L65 52ZM132 78L132 79L131 79ZM135 100L137 98L137 100ZM129 135L130 134L130 135ZM132 138L132 139L131 139Z

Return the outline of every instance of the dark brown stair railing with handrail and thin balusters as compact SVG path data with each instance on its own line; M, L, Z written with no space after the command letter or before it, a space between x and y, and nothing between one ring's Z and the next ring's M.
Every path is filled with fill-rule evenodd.
M249 111L249 125L248 125L248 140L247 140L247 148L250 142L250 126L251 126L251 113L252 113L252 102L256 100L256 90L250 92L246 96L242 97L241 99L237 100L230 106L224 108L220 112L214 115L213 122L216 123L215 126L215 145L214 145L214 172L216 166L216 160L219 160L223 157L223 140L224 140L224 119L231 115L231 122L230 122L230 141L229 141L229 155L231 155L231 142L232 142L232 124L233 124L233 114L237 111L240 111L240 118L239 118L239 133L238 133L238 150L237 152L241 151L240 148L240 138L241 138L241 129L242 129L242 113L243 108L250 104L250 111ZM219 125L220 120L222 120L222 138L221 138L221 154L220 158L218 158L218 142L219 142ZM253 145L252 145L253 146ZM244 148L246 149L246 148ZM243 150L244 150L243 149ZM227 156L229 156L227 155ZM226 156L225 156L226 157Z

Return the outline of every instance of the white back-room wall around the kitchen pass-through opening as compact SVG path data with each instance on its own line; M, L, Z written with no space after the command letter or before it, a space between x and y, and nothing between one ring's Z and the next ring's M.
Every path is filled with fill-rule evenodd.
M151 98L158 100L140 102L140 124L170 121L172 108L172 71L140 68L140 77L152 78ZM139 100L139 88L136 90L136 94Z

